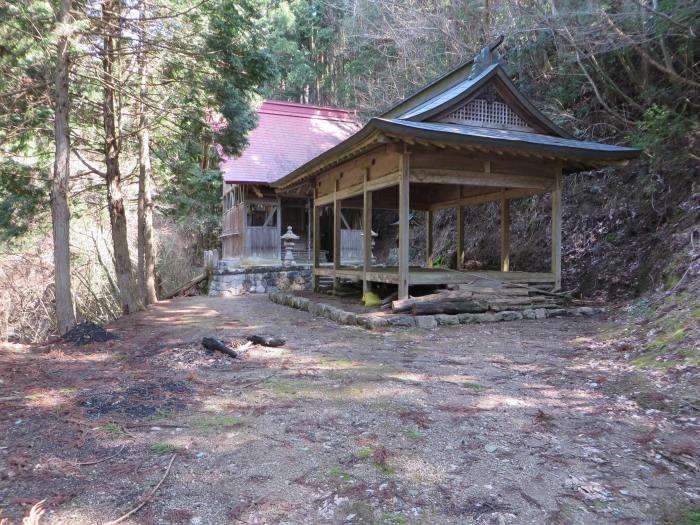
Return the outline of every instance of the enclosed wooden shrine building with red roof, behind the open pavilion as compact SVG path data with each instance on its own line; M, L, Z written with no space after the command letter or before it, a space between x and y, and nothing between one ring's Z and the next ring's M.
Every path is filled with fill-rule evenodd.
M219 164L224 177L222 259L241 264L280 264L281 235L292 226L300 237L296 258L301 263L309 261L310 196L282 196L271 183L358 128L353 116L344 110L263 102L246 149L238 157L224 156ZM359 251L360 233L357 230L348 238L348 253Z

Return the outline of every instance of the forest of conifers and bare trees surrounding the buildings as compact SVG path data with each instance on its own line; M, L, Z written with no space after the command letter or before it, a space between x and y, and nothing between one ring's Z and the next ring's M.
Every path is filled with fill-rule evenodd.
M0 338L57 329L50 203L62 57L77 319L141 308L149 279L151 296L174 289L217 246L213 145L240 151L262 98L365 120L499 35L506 70L557 124L645 150L625 169L567 179L566 285L607 299L687 293L700 243L699 21L690 0L3 0ZM208 110L228 124L217 136ZM515 206L513 264L532 267L533 247L547 242L547 197ZM466 228L469 257L488 264L497 211L467 212L493 218L493 229ZM456 251L450 224L449 213L438 218L445 264Z

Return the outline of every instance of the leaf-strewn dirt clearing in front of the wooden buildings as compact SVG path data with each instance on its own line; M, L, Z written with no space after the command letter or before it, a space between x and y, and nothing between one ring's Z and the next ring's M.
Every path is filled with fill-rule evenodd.
M113 341L5 345L0 516L45 499L41 523L105 523L172 461L122 523L692 519L697 408L602 349L603 322L368 332L192 297L121 319ZM287 344L235 360L199 345L256 333Z

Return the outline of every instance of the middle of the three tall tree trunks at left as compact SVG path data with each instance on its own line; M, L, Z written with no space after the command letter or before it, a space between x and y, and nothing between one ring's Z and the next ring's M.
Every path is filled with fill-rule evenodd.
M102 3L102 21L104 48L102 50L102 83L103 103L102 116L104 123L105 166L107 181L107 204L109 220L112 226L112 246L114 249L114 270L117 274L119 295L121 296L124 314L136 311L132 287L131 258L129 257L129 242L127 238L126 210L122 194L121 172L119 168L119 143L115 122L115 82L114 77L114 31L118 27L118 17L114 12L119 0L105 0Z

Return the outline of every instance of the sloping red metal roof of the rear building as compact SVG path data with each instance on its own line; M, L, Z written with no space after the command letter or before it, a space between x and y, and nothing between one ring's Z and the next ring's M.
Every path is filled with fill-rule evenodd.
M360 128L342 109L266 100L239 157L223 156L224 182L270 184L342 142Z

